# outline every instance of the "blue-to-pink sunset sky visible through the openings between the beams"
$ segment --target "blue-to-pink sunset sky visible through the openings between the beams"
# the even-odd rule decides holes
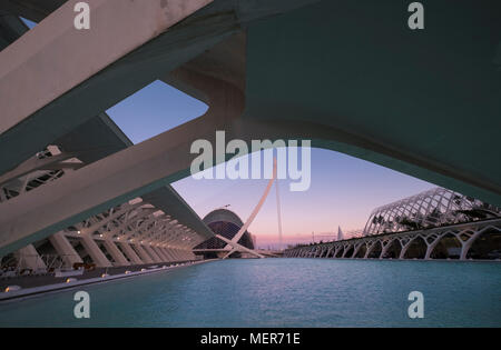
[[[156,81],[107,112],[134,143],[141,142],[204,114],[207,106],[164,82]],[[228,140],[227,140],[228,141]],[[243,221],[266,188],[267,180],[195,180],[173,187],[200,218],[229,204]],[[337,232],[363,229],[371,211],[428,190],[433,184],[343,153],[312,149],[312,182],[305,192],[291,192],[289,180],[279,180],[285,243],[327,240]],[[249,232],[259,247],[275,246],[278,237],[276,194],[272,189]]]

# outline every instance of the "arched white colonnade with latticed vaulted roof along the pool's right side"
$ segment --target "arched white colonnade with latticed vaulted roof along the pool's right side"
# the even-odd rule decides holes
[[[287,258],[499,259],[500,209],[436,188],[375,209],[364,236],[287,249]]]

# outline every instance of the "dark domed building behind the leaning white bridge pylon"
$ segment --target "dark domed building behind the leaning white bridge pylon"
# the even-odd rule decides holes
[[[244,226],[240,218],[236,213],[227,209],[216,209],[209,212],[204,219],[204,223],[213,230],[214,233],[220,234],[227,239],[233,239],[240,228]],[[239,244],[254,249],[253,237],[248,231],[245,231],[238,241]],[[202,242],[194,248],[196,254],[203,254],[204,259],[214,259],[226,254],[223,250],[226,247],[226,242],[218,239],[217,237],[212,237],[205,242]],[[239,257],[238,252],[232,254],[232,258]]]

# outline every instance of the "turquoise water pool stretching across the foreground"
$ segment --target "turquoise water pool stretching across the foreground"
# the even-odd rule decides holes
[[[414,290],[423,319],[407,317]],[[230,259],[0,304],[0,326],[500,327],[501,263]]]

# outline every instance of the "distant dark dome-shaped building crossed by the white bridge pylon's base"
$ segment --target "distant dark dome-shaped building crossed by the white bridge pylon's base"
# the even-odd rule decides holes
[[[233,211],[227,209],[216,209],[209,212],[203,220],[215,233],[220,234],[227,239],[232,239],[244,226],[240,218]],[[248,231],[245,231],[244,236],[239,239],[238,243],[242,246],[254,249],[254,243]],[[226,243],[220,239],[213,237],[202,242],[195,249],[223,249]]]

